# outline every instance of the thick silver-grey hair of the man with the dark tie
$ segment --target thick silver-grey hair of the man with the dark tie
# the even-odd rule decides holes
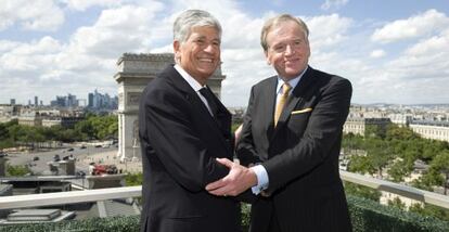
[[[187,10],[174,23],[174,40],[185,42],[193,27],[210,26],[217,29],[221,38],[221,25],[209,12],[202,10]]]

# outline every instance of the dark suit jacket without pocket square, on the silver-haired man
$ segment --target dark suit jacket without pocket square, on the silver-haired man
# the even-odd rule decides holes
[[[231,115],[215,101],[217,120],[172,66],[143,91],[141,231],[240,231],[239,203],[205,191],[229,172],[215,158],[233,156]]]

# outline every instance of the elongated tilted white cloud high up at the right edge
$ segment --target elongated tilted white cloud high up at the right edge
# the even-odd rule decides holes
[[[449,26],[449,18],[437,10],[428,10],[422,14],[399,20],[375,29],[371,39],[388,43],[403,39],[425,37],[434,31],[440,31]]]

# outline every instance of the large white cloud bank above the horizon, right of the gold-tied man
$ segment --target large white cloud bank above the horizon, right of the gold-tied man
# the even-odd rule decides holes
[[[359,75],[354,81],[355,98],[363,102],[447,103],[448,56],[449,30],[446,30],[423,38],[383,63],[360,57],[368,69],[355,73]]]

